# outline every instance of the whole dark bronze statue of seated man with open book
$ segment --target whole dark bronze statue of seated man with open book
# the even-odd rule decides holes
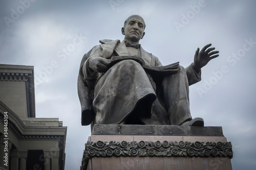
[[[201,68],[218,57],[211,44],[196,51],[194,62],[162,66],[139,44],[146,25],[139,15],[124,21],[124,40],[100,40],[82,58],[78,76],[82,125],[134,124],[204,126],[189,110],[189,85]],[[209,48],[210,47],[210,48]]]

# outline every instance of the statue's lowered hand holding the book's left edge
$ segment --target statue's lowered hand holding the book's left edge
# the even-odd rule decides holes
[[[102,57],[94,57],[89,60],[89,67],[96,72],[105,72],[109,69],[110,61]]]

